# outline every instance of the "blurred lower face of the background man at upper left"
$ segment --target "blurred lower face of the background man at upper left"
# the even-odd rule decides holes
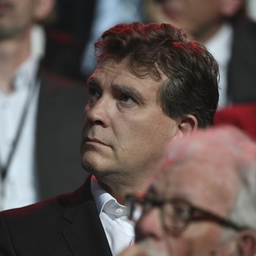
[[[38,0],[0,0],[0,38],[24,33],[34,22]]]

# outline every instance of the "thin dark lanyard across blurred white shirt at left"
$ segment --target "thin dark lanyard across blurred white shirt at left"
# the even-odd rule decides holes
[[[32,102],[32,100],[34,98],[34,94],[36,92],[36,89],[37,89],[38,85],[39,85],[39,79],[38,79],[38,74],[37,74],[34,84],[33,84],[33,82],[30,84],[30,90],[27,94],[26,102],[25,102],[25,105],[23,107],[23,112],[22,112],[22,115],[21,115],[20,120],[19,120],[19,126],[17,128],[15,138],[14,138],[14,141],[13,141],[12,146],[11,146],[11,151],[10,151],[10,153],[8,155],[8,158],[7,158],[7,162],[6,162],[5,165],[3,165],[0,161],[0,172],[1,172],[1,181],[2,181],[2,183],[5,180],[5,177],[8,173],[8,169],[10,167],[10,164],[11,164],[11,161],[13,159],[14,153],[17,149],[17,144],[19,142],[20,135],[21,135],[21,133],[23,131],[23,128],[24,128],[27,113],[29,111],[29,106],[30,106],[30,103]]]

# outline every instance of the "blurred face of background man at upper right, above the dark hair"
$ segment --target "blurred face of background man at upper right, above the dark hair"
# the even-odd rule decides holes
[[[145,1],[150,21],[173,24],[190,36],[200,37],[205,30],[219,26],[222,21],[223,0],[155,0]]]

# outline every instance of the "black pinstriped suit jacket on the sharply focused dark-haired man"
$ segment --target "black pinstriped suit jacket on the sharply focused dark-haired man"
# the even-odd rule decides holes
[[[1,212],[0,255],[112,255],[90,177],[72,194]]]

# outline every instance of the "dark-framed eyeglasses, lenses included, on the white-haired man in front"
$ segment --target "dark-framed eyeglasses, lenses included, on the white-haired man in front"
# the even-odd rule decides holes
[[[157,201],[137,196],[127,196],[126,206],[128,207],[128,217],[134,221],[137,221],[144,212],[153,207],[161,208],[163,227],[173,233],[182,232],[193,221],[211,221],[236,231],[249,229],[178,198]]]

